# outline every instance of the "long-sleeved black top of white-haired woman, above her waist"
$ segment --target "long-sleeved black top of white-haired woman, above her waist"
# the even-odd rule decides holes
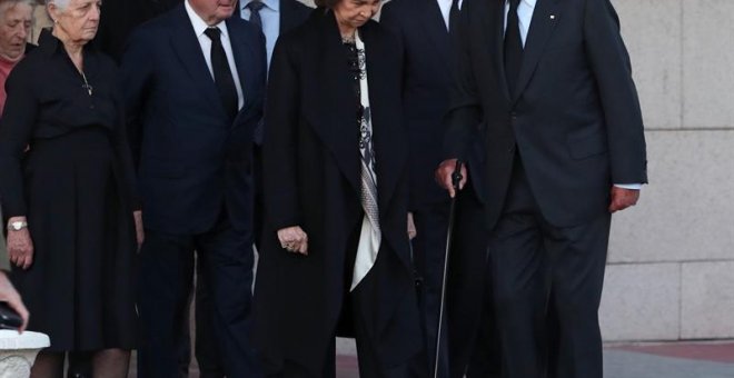
[[[21,173],[26,148],[32,149],[36,140],[81,128],[108,129],[127,181],[122,185],[129,188],[128,195],[136,197],[117,67],[90,46],[83,48],[83,64],[85,76],[63,43],[50,32],[42,32],[39,47],[10,72],[6,82],[8,100],[0,118],[0,203],[6,219],[27,215]]]

